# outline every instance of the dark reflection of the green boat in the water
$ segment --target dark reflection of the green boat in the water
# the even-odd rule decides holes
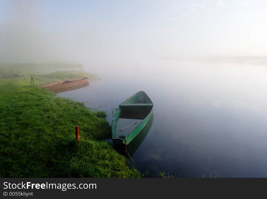
[[[144,141],[145,137],[147,136],[152,123],[153,123],[153,119],[154,119],[154,114],[153,111],[151,111],[151,117],[149,119],[149,121],[147,122],[146,126],[140,131],[140,133],[133,139],[133,141],[130,142],[130,144],[127,145],[127,152],[125,151],[125,144],[124,145],[113,145],[113,148],[115,148],[120,154],[125,155],[125,157],[129,158],[128,154],[130,156],[132,156],[134,154],[134,152],[137,150],[137,148],[141,145],[141,143]],[[144,116],[147,115],[147,113],[143,112],[144,115],[139,114],[140,119],[143,119]],[[136,116],[136,114],[134,114]],[[127,119],[133,119],[132,118],[132,114],[129,114],[128,117],[127,115],[123,114],[123,118]],[[137,119],[136,117],[134,119]]]

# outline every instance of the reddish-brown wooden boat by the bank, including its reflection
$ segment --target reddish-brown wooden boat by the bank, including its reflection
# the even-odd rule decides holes
[[[58,81],[51,84],[41,85],[39,87],[45,88],[48,91],[53,91],[55,93],[71,91],[78,88],[83,88],[89,85],[88,78],[70,79],[66,81]]]

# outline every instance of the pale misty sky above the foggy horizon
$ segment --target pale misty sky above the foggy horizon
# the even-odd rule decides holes
[[[266,0],[0,0],[0,62],[267,56],[266,35]]]

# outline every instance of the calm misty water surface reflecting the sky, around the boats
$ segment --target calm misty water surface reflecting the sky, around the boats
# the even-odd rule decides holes
[[[86,70],[102,80],[58,96],[106,111],[110,125],[137,91],[153,101],[153,123],[132,155],[139,171],[267,177],[267,68],[157,60]]]

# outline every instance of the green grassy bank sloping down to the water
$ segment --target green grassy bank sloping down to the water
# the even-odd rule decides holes
[[[23,67],[0,69],[0,177],[140,177],[103,141],[105,114],[31,86]],[[88,143],[75,142],[76,125]]]

